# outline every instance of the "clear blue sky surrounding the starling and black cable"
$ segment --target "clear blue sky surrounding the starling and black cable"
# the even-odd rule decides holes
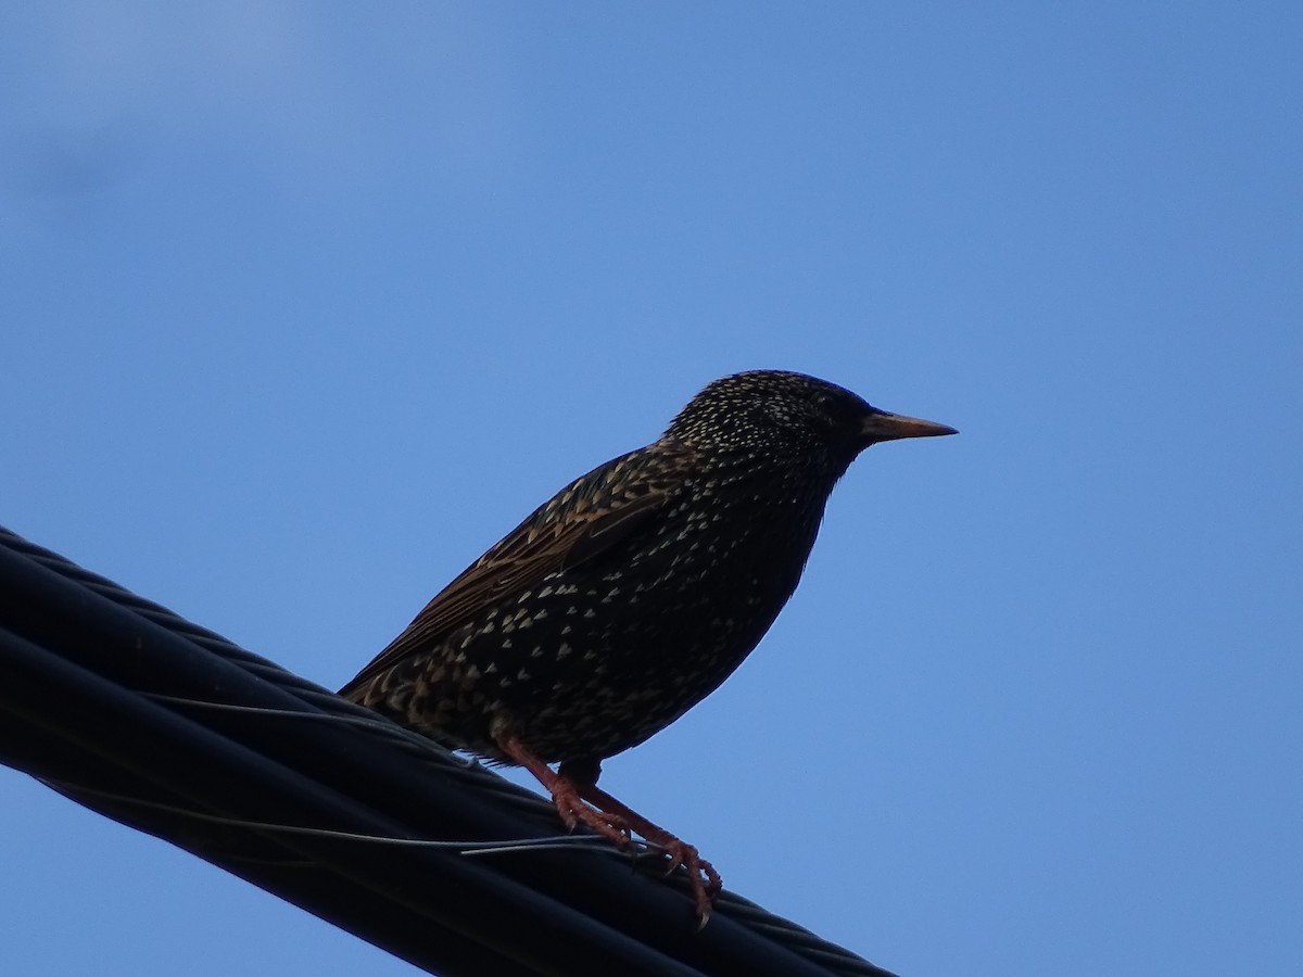
[[[874,448],[606,766],[908,974],[1303,961],[1298,4],[7,5],[0,521],[326,685],[714,376]],[[0,967],[412,968],[0,770]]]

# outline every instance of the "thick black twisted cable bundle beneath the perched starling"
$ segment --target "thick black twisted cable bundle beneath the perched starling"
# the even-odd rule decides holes
[[[890,977],[3,529],[0,762],[444,977]]]

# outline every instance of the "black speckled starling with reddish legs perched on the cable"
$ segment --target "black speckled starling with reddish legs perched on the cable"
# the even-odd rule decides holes
[[[842,387],[756,370],[710,383],[646,446],[562,488],[476,560],[340,694],[529,770],[568,827],[697,849],[597,787],[603,759],[710,694],[800,580],[833,486],[870,444],[955,434]],[[559,763],[554,772],[549,763]]]

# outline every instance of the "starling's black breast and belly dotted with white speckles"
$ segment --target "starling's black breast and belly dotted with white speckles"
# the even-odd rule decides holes
[[[754,649],[814,542],[826,492],[748,481],[684,485],[654,529],[450,636],[409,722],[487,757],[516,733],[547,761],[610,757],[671,723]]]

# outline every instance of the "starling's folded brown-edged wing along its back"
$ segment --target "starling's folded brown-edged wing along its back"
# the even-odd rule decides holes
[[[571,482],[440,590],[340,694],[349,696],[511,595],[542,586],[550,573],[624,542],[676,495],[692,453],[662,440],[654,452],[629,452]]]

